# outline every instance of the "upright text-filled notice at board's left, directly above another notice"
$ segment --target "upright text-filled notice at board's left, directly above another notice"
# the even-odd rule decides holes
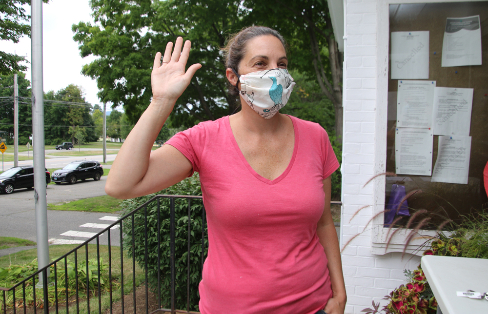
[[[431,128],[435,81],[398,80],[397,127]]]

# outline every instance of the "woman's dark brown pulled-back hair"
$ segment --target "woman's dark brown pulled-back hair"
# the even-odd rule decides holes
[[[228,40],[224,51],[225,68],[234,69],[239,73],[239,63],[244,58],[246,52],[246,45],[250,39],[260,36],[271,35],[280,39],[283,47],[286,50],[286,42],[276,30],[265,26],[249,26],[241,30],[239,33],[232,35]],[[229,94],[232,96],[238,96],[239,91],[229,82]]]

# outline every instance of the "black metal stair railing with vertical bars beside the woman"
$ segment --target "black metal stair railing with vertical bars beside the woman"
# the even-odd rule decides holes
[[[171,302],[170,304],[162,304],[162,297],[161,297],[161,292],[162,292],[162,283],[161,283],[161,262],[164,256],[161,255],[160,249],[157,251],[157,285],[156,287],[151,287],[151,289],[156,290],[156,296],[157,296],[157,308],[156,310],[149,310],[150,307],[154,308],[154,305],[150,305],[148,301],[148,293],[149,293],[149,286],[148,286],[148,233],[149,230],[154,230],[152,228],[154,226],[154,222],[152,222],[152,226],[148,226],[148,219],[147,219],[147,208],[148,205],[154,205],[154,202],[156,202],[156,208],[157,208],[157,233],[158,233],[158,243],[157,247],[161,248],[162,246],[162,235],[160,234],[161,232],[161,199],[169,199],[170,201],[170,211],[169,211],[169,244],[170,244],[170,258],[169,258],[169,263],[170,263],[170,289],[171,289]],[[176,309],[176,304],[175,304],[175,289],[176,289],[176,271],[175,271],[175,199],[186,199],[187,201],[187,206],[188,206],[188,216],[187,216],[187,256],[186,256],[186,262],[187,262],[187,274],[186,274],[186,286],[187,286],[187,299],[186,299],[186,310],[178,310]],[[102,313],[102,285],[105,286],[104,291],[104,297],[106,298],[108,294],[108,302],[109,302],[109,308],[110,308],[110,313],[112,314],[114,309],[113,309],[113,299],[114,299],[114,285],[115,283],[113,282],[114,279],[114,265],[112,261],[112,251],[113,251],[113,236],[111,235],[111,230],[113,228],[119,228],[120,230],[120,278],[119,278],[119,284],[120,284],[120,303],[121,303],[121,313],[124,314],[124,311],[129,312],[129,310],[124,309],[124,298],[127,298],[128,296],[124,294],[124,286],[127,285],[127,283],[124,282],[124,259],[132,259],[132,305],[133,309],[129,313],[155,313],[155,312],[170,312],[171,314],[175,313],[198,313],[198,312],[192,312],[190,311],[190,264],[191,264],[191,259],[190,259],[190,253],[191,253],[191,243],[190,243],[190,234],[192,233],[192,221],[194,221],[195,218],[192,218],[191,216],[191,208],[192,208],[192,200],[197,200],[197,199],[202,199],[202,196],[177,196],[177,195],[158,195],[154,196],[147,202],[143,203],[141,206],[137,207],[130,213],[122,216],[119,220],[113,222],[110,224],[108,227],[103,229],[101,232],[96,234],[95,236],[92,236],[90,239],[85,241],[84,243],[80,244],[73,250],[69,251],[68,253],[62,255],[60,258],[57,258],[56,260],[52,261],[49,265],[39,269],[32,275],[29,275],[28,277],[22,279],[20,282],[16,283],[14,286],[10,288],[1,288],[0,287],[0,303],[2,303],[2,307],[0,309],[0,313],[3,314],[17,314],[17,313],[23,313],[26,314],[27,311],[29,313],[34,313],[37,314],[37,312],[44,314],[48,314],[49,312],[51,313],[56,313],[59,314],[60,312],[69,314],[75,311],[75,313],[95,313],[98,310],[98,313]],[[140,213],[140,211],[143,211],[143,216],[144,218],[144,258],[143,258],[143,271],[145,272],[144,274],[144,308],[141,310],[140,308],[136,308],[136,290],[137,290],[137,283],[136,283],[136,243],[135,243],[135,214]],[[201,269],[203,270],[203,261],[205,259],[205,210],[202,206],[202,247],[201,247]],[[138,226],[139,227],[139,226]],[[125,229],[124,229],[125,228]],[[123,232],[125,230],[126,232]],[[128,232],[127,232],[128,231]],[[103,282],[102,284],[102,278],[101,278],[101,273],[102,273],[102,258],[101,258],[101,253],[100,253],[100,237],[104,234],[107,234],[108,236],[108,283]],[[127,238],[127,234],[131,238]],[[96,272],[92,272],[94,269],[95,265],[89,265],[90,262],[93,261],[93,259],[89,259],[89,244],[96,242],[96,256],[95,256],[95,261],[96,261]],[[124,245],[130,243],[132,247],[129,247],[126,251],[129,252],[129,256],[127,254],[124,254]],[[79,267],[79,252],[84,251],[84,269],[81,269],[80,271],[78,270]],[[127,252],[126,252],[127,253]],[[74,258],[74,265],[72,265],[69,262],[68,257]],[[138,263],[141,264],[141,259],[138,259]],[[71,265],[71,266],[68,266]],[[141,265],[142,266],[142,265]],[[74,267],[74,269],[73,269]],[[71,272],[70,272],[71,271]],[[73,278],[73,272],[74,272],[74,278]],[[84,272],[84,274],[83,274]],[[53,273],[53,274],[51,274]],[[70,276],[72,279],[68,280],[68,277]],[[200,273],[201,274],[201,273]],[[80,278],[80,276],[85,275],[85,278]],[[91,276],[90,276],[91,275]],[[96,279],[94,278],[94,275],[96,275]],[[52,279],[52,283],[49,283],[49,279]],[[63,287],[58,286],[58,279],[64,278],[64,281],[61,280],[61,283],[64,283]],[[200,276],[201,278],[201,276]],[[198,278],[198,281],[200,280]],[[68,282],[74,280],[74,294],[73,294],[73,289],[68,287]],[[128,280],[125,280],[128,282]],[[95,285],[96,283],[96,285]],[[129,282],[130,284],[130,282]],[[38,287],[36,287],[38,285]],[[41,287],[39,287],[42,285]],[[84,293],[85,295],[80,295],[80,288],[83,288],[86,290]],[[32,296],[29,293],[26,293],[27,290],[32,290]],[[36,289],[42,289],[42,298],[36,298]],[[53,297],[49,297],[48,292],[54,291],[54,300]],[[69,294],[68,292],[71,291],[72,294]],[[64,292],[64,293],[63,293]],[[60,297],[63,297],[60,299]],[[42,300],[41,300],[42,299]],[[2,302],[3,301],[3,302]],[[40,303],[42,301],[42,304]],[[85,302],[81,308],[81,303]],[[90,302],[98,302],[98,307],[97,306],[91,306],[90,307]],[[74,303],[74,304],[73,304]],[[170,308],[164,308],[165,306],[170,305]],[[106,310],[108,312],[108,309]]]

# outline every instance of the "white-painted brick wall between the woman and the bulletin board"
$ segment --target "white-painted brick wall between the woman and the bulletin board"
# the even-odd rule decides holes
[[[413,270],[420,258],[401,253],[371,254],[374,191],[376,98],[377,98],[377,8],[376,0],[346,0],[343,216],[342,243],[354,239],[343,251],[347,289],[347,314],[360,314],[371,301],[380,302],[394,288],[405,283],[404,269]],[[352,218],[352,220],[351,220]],[[367,226],[367,227],[366,227]],[[366,228],[365,228],[366,227]],[[359,236],[357,236],[360,234]]]

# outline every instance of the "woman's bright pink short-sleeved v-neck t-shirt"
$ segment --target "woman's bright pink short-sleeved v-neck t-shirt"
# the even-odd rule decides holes
[[[316,229],[323,180],[339,163],[319,124],[290,118],[293,156],[274,180],[247,163],[229,117],[201,122],[166,142],[200,174],[208,226],[202,314],[314,314],[332,296]]]

